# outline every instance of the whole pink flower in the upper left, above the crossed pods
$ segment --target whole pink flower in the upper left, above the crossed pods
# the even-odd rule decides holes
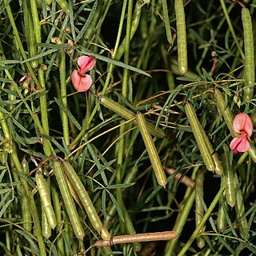
[[[74,70],[71,78],[74,88],[79,92],[90,89],[93,82],[90,75],[86,74],[86,72],[92,70],[95,64],[96,61],[92,56],[81,56],[78,58],[79,71]]]

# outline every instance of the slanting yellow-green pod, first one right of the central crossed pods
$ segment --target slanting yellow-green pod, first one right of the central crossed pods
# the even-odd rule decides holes
[[[202,129],[202,126],[198,120],[198,117],[194,111],[194,107],[190,103],[186,103],[185,105],[186,116],[190,122],[190,126],[192,132],[194,134],[194,138],[198,143],[198,148],[202,155],[203,162],[206,165],[207,170],[214,171],[215,170],[215,162],[212,156],[213,151],[210,151],[209,144],[207,144],[206,140],[208,140],[205,131]],[[209,142],[210,143],[210,142]]]

